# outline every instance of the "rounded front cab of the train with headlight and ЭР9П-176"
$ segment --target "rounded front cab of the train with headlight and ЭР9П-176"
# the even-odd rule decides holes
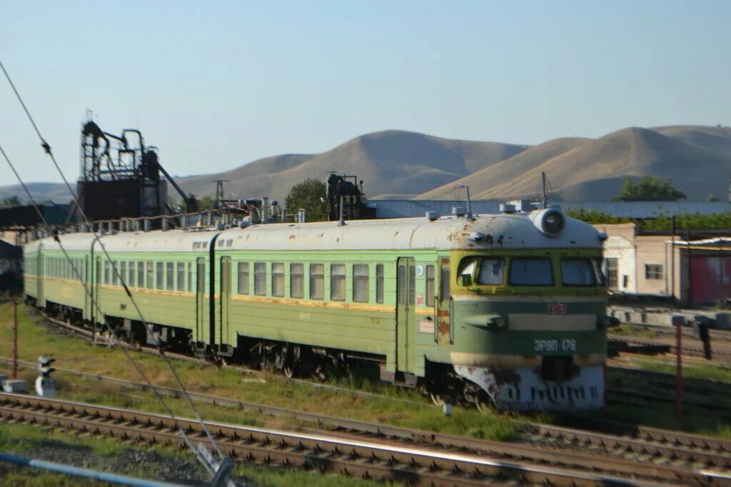
[[[481,244],[452,254],[450,362],[465,395],[499,409],[603,407],[602,235],[557,208],[471,230]]]

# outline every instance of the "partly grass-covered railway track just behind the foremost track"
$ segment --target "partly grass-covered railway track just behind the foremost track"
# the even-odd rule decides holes
[[[26,364],[32,365],[23,363],[23,365]],[[59,371],[86,375],[97,380],[112,380],[130,388],[148,389],[148,386],[138,382],[65,371],[64,369]],[[158,388],[158,390],[167,396],[180,394],[173,389]],[[638,475],[642,479],[669,483],[700,484],[710,481],[717,485],[731,484],[731,481],[722,473],[731,469],[731,440],[700,437],[643,426],[580,420],[574,426],[581,426],[585,430],[532,424],[526,427],[518,442],[491,442],[449,434],[414,431],[384,424],[332,418],[200,393],[191,393],[191,396],[197,401],[254,410],[262,415],[295,418],[303,423],[311,423],[313,428],[317,426],[320,432],[323,427],[329,428],[329,434],[354,441],[367,439],[382,445],[397,443],[405,448],[414,445],[439,448],[450,452],[489,455],[509,461],[528,460],[550,467],[560,465],[584,472],[599,471],[605,472],[605,475],[629,475],[630,477]],[[581,423],[582,421],[583,423]],[[599,431],[586,431],[586,428],[599,429]],[[602,467],[597,467],[599,462]]]

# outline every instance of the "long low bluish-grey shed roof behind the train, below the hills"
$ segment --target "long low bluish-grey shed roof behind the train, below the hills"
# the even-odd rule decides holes
[[[496,214],[504,200],[474,200],[473,213]],[[719,214],[731,211],[725,201],[562,201],[555,202],[564,211],[569,209],[596,210],[612,216],[651,219],[672,214]],[[376,208],[376,218],[408,218],[424,216],[426,211],[439,211],[442,215],[452,214],[453,206],[466,206],[456,200],[369,200],[368,205]]]

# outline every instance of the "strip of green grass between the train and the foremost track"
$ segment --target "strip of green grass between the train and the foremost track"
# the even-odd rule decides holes
[[[36,314],[20,306],[19,355],[21,360],[34,361],[39,355],[53,355],[55,366],[84,371],[124,380],[143,382],[132,368],[123,352],[102,345],[92,346],[85,340],[58,333],[53,325],[44,325]],[[10,306],[0,306],[0,342],[10,343],[12,323]],[[159,357],[131,352],[135,361],[155,385],[175,387],[175,382]],[[7,356],[7,355],[6,355]],[[363,396],[342,390],[315,388],[309,384],[288,382],[268,374],[265,381],[257,376],[238,371],[216,369],[215,366],[173,360],[175,370],[189,390],[215,396],[237,399],[270,406],[299,409],[307,412],[331,415],[369,422],[388,423],[410,429],[425,429],[448,434],[484,437],[486,439],[510,439],[515,437],[522,423],[530,416],[505,416],[497,412],[483,414],[474,409],[455,407],[450,418],[441,410],[431,407],[417,390],[396,388],[385,383],[355,379],[338,379],[327,382],[341,388],[361,389],[385,397]],[[34,380],[33,369],[23,369],[21,378]],[[122,390],[118,385],[91,379],[56,373],[59,399],[90,401],[95,404],[144,409],[164,412],[150,393]],[[76,385],[77,387],[72,387]],[[191,418],[193,412],[185,401],[166,399],[177,415]],[[206,406],[197,403],[201,415],[207,420],[243,423],[259,426],[297,426],[291,421],[254,415],[238,409]]]

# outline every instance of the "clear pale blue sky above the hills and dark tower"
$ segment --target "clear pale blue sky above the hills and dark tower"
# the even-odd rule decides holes
[[[171,173],[383,129],[540,143],[731,124],[731,1],[14,1],[0,58],[78,174],[87,108]],[[0,79],[0,144],[58,181]],[[0,184],[14,178],[0,161]]]

